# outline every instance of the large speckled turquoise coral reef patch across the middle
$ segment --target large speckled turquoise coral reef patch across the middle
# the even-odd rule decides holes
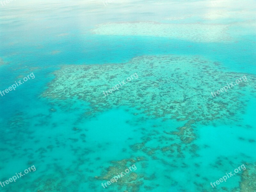
[[[128,82],[126,78],[134,73],[138,77]],[[56,78],[42,96],[64,100],[78,97],[87,101],[91,108],[85,116],[89,117],[123,105],[136,108],[147,118],[184,121],[183,128],[172,134],[185,143],[195,139],[192,127],[196,122],[238,121],[238,113],[243,112],[248,102],[243,95],[255,96],[256,89],[255,76],[226,72],[219,65],[197,56],[141,56],[122,64],[65,65],[54,75]],[[246,82],[212,96],[211,92],[244,75]],[[104,94],[116,84],[123,86],[111,94]]]

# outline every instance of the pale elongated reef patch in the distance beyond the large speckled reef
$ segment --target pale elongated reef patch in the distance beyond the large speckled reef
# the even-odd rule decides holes
[[[227,33],[228,27],[221,24],[170,24],[140,21],[104,23],[92,29],[92,32],[99,35],[159,36],[195,42],[223,42],[231,40]]]

